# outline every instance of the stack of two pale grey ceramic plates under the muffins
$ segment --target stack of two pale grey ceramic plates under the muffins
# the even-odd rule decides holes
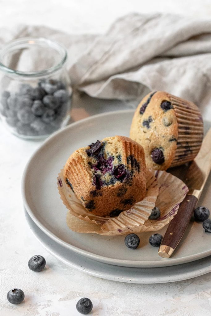
[[[128,249],[124,236],[72,232],[67,210],[57,190],[57,175],[69,155],[79,147],[114,135],[129,135],[132,110],[92,116],[57,132],[32,156],[23,175],[22,195],[26,219],[42,245],[66,264],[91,275],[130,283],[162,283],[189,279],[211,271],[211,234],[191,221],[169,259],[150,246],[152,232],[140,234],[140,246]],[[206,124],[208,128],[210,123]],[[211,175],[199,205],[211,201]],[[166,228],[159,231],[164,235]],[[210,256],[210,257],[209,257]]]

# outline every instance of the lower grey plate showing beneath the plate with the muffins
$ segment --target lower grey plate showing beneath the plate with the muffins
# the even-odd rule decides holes
[[[127,283],[167,283],[191,279],[211,271],[211,257],[163,268],[127,268],[94,261],[59,245],[43,233],[25,212],[27,222],[42,246],[58,260],[92,276]]]

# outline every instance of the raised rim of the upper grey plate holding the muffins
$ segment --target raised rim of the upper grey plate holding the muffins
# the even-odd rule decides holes
[[[81,248],[78,248],[76,246],[73,246],[64,240],[61,240],[58,236],[53,234],[48,228],[45,227],[44,224],[42,224],[36,216],[33,214],[33,211],[30,209],[28,203],[27,203],[27,197],[26,197],[26,191],[25,191],[25,186],[26,186],[26,181],[27,181],[27,173],[28,169],[30,167],[31,161],[34,159],[36,155],[39,155],[39,152],[46,146],[47,143],[52,141],[52,139],[56,138],[58,135],[65,133],[67,130],[71,130],[77,125],[83,125],[86,122],[89,122],[93,119],[97,119],[100,117],[104,116],[110,116],[110,115],[116,115],[116,114],[126,114],[126,113],[134,113],[135,109],[129,109],[129,110],[117,110],[117,111],[109,111],[109,112],[103,112],[100,114],[92,115],[87,118],[78,120],[74,123],[71,123],[68,126],[65,126],[64,128],[60,129],[59,131],[56,131],[53,133],[50,137],[48,137],[39,147],[38,149],[35,150],[35,152],[30,156],[24,172],[22,174],[22,181],[21,181],[21,192],[22,192],[22,199],[23,199],[23,204],[25,209],[28,212],[28,215],[31,217],[31,219],[34,221],[34,223],[45,233],[47,236],[49,236],[51,239],[53,239],[55,242],[59,243],[60,245],[64,246],[65,248],[68,248],[79,255],[85,256],[87,258],[106,263],[106,264],[111,264],[111,265],[118,265],[118,266],[124,266],[124,267],[140,267],[140,268],[150,268],[150,267],[165,267],[165,266],[173,266],[173,265],[178,265],[178,264],[185,264],[187,262],[199,260],[201,258],[208,257],[211,255],[211,249],[207,250],[205,252],[202,252],[197,255],[191,255],[191,256],[186,256],[183,257],[182,263],[181,263],[181,258],[170,258],[168,261],[154,261],[154,264],[152,264],[152,261],[138,261],[138,260],[123,260],[123,259],[115,259],[115,258],[109,258],[109,257],[104,257],[98,254],[95,254],[93,252],[89,252],[86,250],[83,250]],[[59,173],[59,170],[58,170]],[[168,263],[168,264],[167,264]]]

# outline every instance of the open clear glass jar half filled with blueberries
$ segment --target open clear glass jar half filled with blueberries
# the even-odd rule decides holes
[[[16,136],[42,139],[70,119],[67,52],[45,38],[21,38],[0,52],[0,118]]]

